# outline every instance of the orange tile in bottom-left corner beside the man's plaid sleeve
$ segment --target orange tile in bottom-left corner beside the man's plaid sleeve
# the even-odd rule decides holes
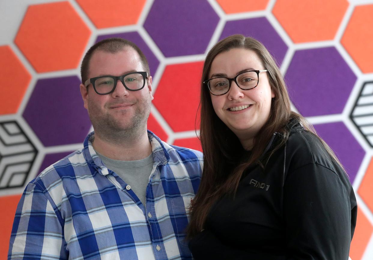
[[[0,259],[7,259],[10,234],[12,233],[13,220],[19,199],[22,194],[0,197],[0,209],[6,214],[1,214],[0,221]]]

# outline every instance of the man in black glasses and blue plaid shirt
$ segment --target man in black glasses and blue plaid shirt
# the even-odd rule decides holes
[[[93,45],[81,66],[94,132],[25,189],[9,259],[191,259],[188,206],[201,177],[200,152],[150,131],[152,77],[132,42]]]

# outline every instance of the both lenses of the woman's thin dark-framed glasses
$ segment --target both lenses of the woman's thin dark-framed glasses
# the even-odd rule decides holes
[[[252,89],[258,85],[258,74],[256,72],[245,72],[239,74],[236,78],[238,86],[242,89]],[[211,79],[208,83],[210,91],[215,95],[228,92],[229,80],[225,77]]]

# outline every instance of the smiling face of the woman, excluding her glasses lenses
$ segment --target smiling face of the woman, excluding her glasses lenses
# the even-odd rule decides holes
[[[244,70],[264,69],[267,68],[263,67],[254,51],[234,48],[214,58],[209,79],[216,76],[233,78]],[[275,93],[269,85],[267,72],[260,72],[256,88],[242,90],[233,80],[228,93],[219,96],[210,93],[210,96],[216,115],[242,143],[243,140],[253,139],[268,120]],[[242,106],[247,108],[242,109]]]

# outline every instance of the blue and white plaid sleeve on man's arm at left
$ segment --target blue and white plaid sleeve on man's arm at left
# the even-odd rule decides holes
[[[62,219],[48,196],[37,183],[26,187],[13,222],[8,260],[68,259]]]

